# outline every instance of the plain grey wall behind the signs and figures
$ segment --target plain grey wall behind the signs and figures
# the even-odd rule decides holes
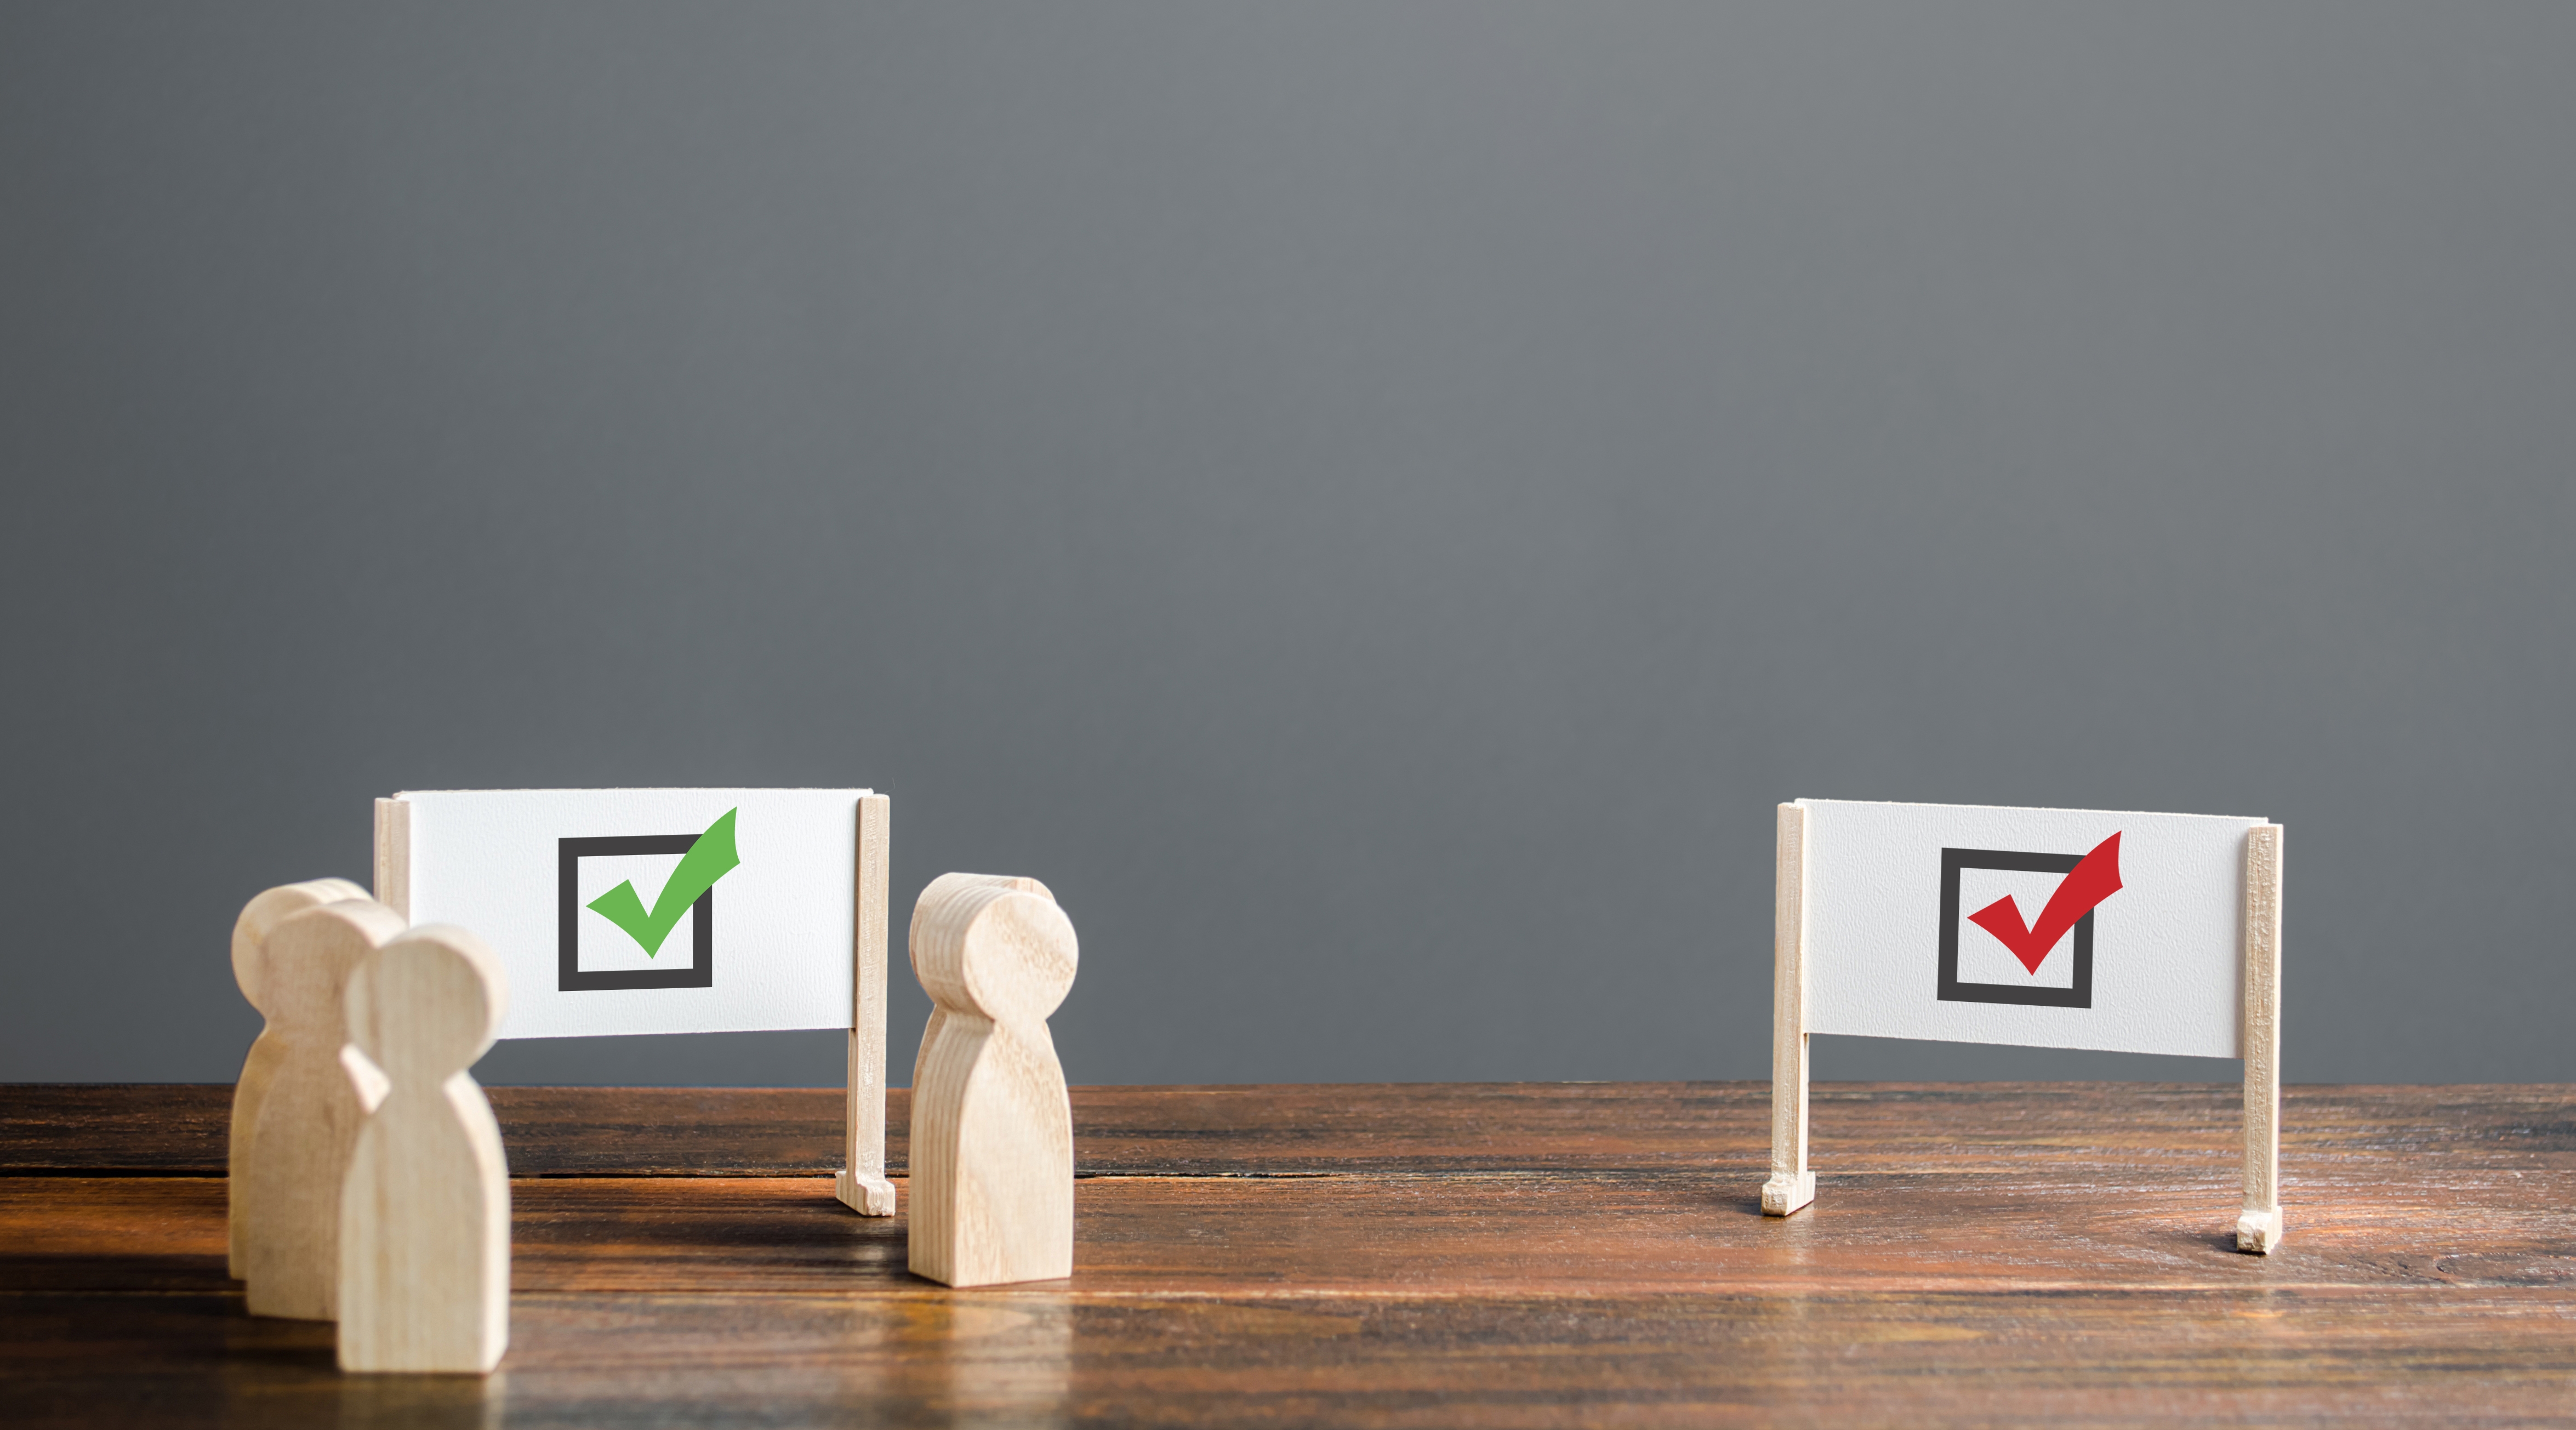
[[[0,1077],[229,1080],[234,910],[376,794],[873,783],[899,917],[1064,897],[1077,1082],[1762,1077],[1790,796],[2269,814],[2293,1080],[2571,1080],[2571,57],[13,0]]]

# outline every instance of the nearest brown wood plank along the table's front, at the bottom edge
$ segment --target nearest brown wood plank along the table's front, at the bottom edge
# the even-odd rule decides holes
[[[520,1296],[502,1373],[355,1378],[224,1296],[0,1296],[10,1425],[2535,1425],[2555,1291]],[[2499,1330],[2504,1335],[2499,1335]]]

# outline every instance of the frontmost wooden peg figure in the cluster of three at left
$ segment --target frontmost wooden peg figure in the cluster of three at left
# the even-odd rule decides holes
[[[510,1167],[466,1072],[507,977],[484,940],[422,925],[348,982],[348,1028],[386,1092],[340,1183],[340,1368],[489,1371],[510,1342]]]

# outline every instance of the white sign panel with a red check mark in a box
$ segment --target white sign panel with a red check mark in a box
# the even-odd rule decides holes
[[[1806,809],[1806,1031],[2244,1056],[2246,830],[2264,819]]]

